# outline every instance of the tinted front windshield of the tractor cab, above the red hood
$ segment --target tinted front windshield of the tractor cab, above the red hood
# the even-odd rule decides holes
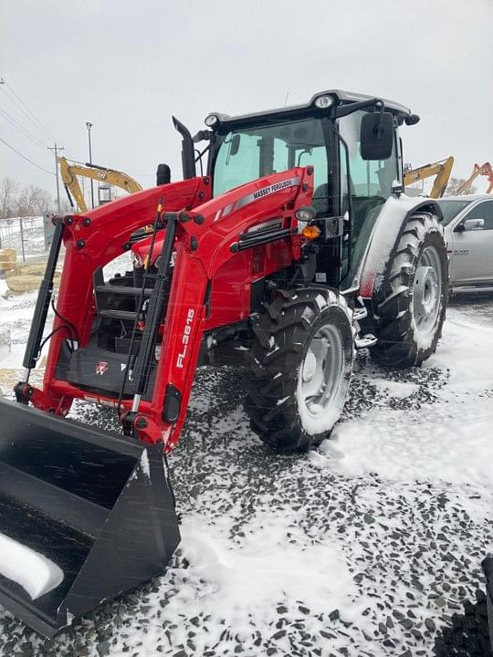
[[[215,158],[215,196],[269,173],[312,164],[313,202],[320,211],[326,211],[327,150],[320,119],[238,128],[219,138],[222,141]]]

